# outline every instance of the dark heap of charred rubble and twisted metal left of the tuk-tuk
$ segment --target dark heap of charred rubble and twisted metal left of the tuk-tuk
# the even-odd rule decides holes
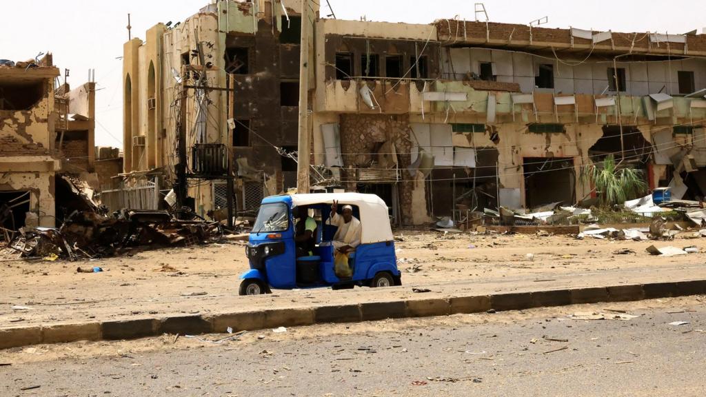
[[[176,220],[167,211],[119,211],[112,216],[97,211],[75,211],[59,228],[20,230],[9,247],[20,256],[95,259],[125,254],[140,247],[185,247],[222,237],[218,222]]]

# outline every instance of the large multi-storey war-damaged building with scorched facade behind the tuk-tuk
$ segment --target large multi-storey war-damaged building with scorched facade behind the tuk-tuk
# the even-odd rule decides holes
[[[170,187],[186,119],[197,212],[228,195],[225,163],[208,174],[201,153],[232,155],[238,211],[294,187],[301,3],[216,1],[126,43],[126,174]],[[314,185],[378,194],[418,225],[584,201],[587,166],[612,154],[650,189],[706,196],[706,35],[337,20],[310,5]],[[213,89],[185,90],[201,73]]]

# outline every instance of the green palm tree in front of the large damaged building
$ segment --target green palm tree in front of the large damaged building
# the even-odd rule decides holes
[[[599,204],[610,207],[640,196],[647,190],[642,179],[644,172],[634,168],[618,169],[613,155],[607,155],[602,163],[590,165],[587,177],[598,194]]]

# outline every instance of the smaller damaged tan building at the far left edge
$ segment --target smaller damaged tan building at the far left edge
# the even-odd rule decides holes
[[[52,54],[0,60],[0,219],[54,227],[117,172],[95,158],[95,83],[59,83]],[[80,194],[78,191],[81,191]],[[5,237],[11,237],[5,234]]]

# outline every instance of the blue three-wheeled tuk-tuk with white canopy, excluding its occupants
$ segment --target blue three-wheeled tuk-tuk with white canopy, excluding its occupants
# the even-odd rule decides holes
[[[332,239],[337,227],[329,221],[331,205],[351,206],[360,220],[359,246],[348,255],[350,277],[339,278],[334,267]],[[318,215],[313,251],[297,258],[295,208],[303,206]],[[401,285],[395,241],[388,206],[374,194],[320,193],[266,197],[246,247],[250,270],[241,275],[240,295],[270,293],[270,288],[349,289],[355,285]]]

